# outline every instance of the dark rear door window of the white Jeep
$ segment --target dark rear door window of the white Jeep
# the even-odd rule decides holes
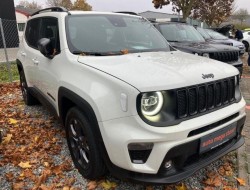
[[[32,19],[28,21],[25,31],[25,39],[28,45],[36,49],[37,49],[37,41],[39,39],[39,26],[40,26],[40,19]]]

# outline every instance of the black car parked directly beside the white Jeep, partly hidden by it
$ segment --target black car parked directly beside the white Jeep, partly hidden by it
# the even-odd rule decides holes
[[[177,22],[155,22],[154,26],[176,49],[215,59],[235,66],[242,73],[239,49],[233,46],[208,43],[191,25]]]

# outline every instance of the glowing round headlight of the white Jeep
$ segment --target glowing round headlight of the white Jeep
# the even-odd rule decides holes
[[[161,111],[163,95],[161,92],[148,92],[142,95],[141,111],[144,115],[153,116]]]

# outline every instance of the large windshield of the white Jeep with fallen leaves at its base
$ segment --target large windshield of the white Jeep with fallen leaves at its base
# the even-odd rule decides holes
[[[75,54],[117,55],[170,51],[147,20],[129,15],[70,15],[66,19],[69,49]]]

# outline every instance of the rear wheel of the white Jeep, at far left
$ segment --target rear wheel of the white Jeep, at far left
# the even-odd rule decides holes
[[[19,72],[19,75],[20,75],[20,88],[22,91],[24,103],[28,106],[38,104],[39,103],[38,100],[30,93],[30,90],[26,82],[24,71],[21,70]]]

